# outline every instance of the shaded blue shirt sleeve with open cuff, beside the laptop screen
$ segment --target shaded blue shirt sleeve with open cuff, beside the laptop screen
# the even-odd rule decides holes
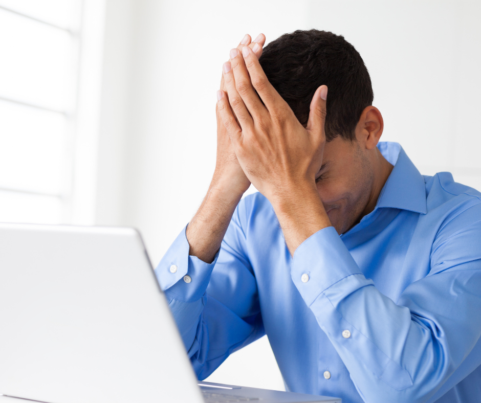
[[[265,334],[245,254],[244,213],[242,200],[212,263],[189,256],[185,227],[155,269],[199,379]]]

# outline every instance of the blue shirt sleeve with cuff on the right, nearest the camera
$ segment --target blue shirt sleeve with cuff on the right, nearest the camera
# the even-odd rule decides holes
[[[333,227],[296,250],[292,280],[365,401],[434,401],[481,364],[479,217],[477,205],[440,230],[431,271],[397,303],[364,277]]]

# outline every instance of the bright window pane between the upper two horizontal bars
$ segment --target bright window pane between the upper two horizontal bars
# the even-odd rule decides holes
[[[69,32],[0,8],[0,97],[63,110],[73,51]]]

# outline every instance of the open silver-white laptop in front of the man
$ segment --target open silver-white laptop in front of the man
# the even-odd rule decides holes
[[[341,399],[199,382],[131,228],[0,223],[0,403]]]

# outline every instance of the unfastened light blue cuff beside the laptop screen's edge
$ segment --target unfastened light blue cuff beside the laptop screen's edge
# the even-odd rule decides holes
[[[186,230],[187,226],[170,245],[156,267],[155,274],[167,297],[193,302],[205,294],[219,251],[212,263],[206,263],[196,256],[189,256],[190,245]]]

